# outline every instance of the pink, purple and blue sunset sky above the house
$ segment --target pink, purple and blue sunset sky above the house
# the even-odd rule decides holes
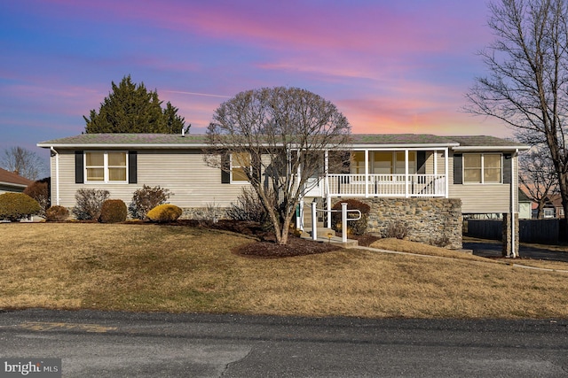
[[[510,136],[461,112],[492,42],[479,0],[20,0],[0,4],[0,150],[81,134],[130,74],[204,132],[242,90],[333,102],[353,133]],[[42,156],[43,156],[42,155]]]

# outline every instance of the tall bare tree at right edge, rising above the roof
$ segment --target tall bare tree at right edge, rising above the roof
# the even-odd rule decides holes
[[[490,73],[476,79],[466,110],[504,121],[522,142],[546,146],[568,213],[568,4],[500,0],[489,10],[495,41],[480,55]]]

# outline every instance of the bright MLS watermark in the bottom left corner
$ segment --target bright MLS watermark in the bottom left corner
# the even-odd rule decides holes
[[[61,378],[61,359],[0,359],[0,378]]]

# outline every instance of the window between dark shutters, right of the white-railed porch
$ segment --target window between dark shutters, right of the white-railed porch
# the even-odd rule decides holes
[[[501,154],[463,154],[463,181],[501,183]]]

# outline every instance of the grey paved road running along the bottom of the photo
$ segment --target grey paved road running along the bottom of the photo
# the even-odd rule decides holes
[[[64,377],[562,377],[568,320],[27,310],[0,313],[0,355],[61,358]]]

